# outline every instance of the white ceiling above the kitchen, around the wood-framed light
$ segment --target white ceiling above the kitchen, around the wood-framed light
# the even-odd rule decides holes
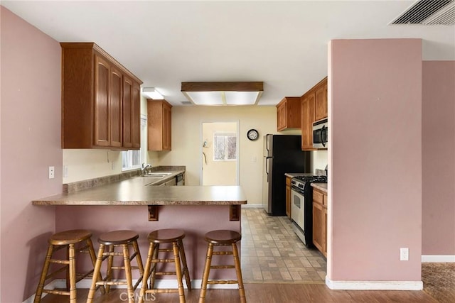
[[[327,75],[332,39],[422,38],[455,60],[455,26],[388,26],[414,1],[1,1],[59,42],[95,42],[173,105],[181,82],[263,81],[259,105]]]

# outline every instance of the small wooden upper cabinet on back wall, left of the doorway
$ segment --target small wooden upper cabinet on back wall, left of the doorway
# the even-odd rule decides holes
[[[149,150],[171,150],[171,108],[166,100],[147,99]]]

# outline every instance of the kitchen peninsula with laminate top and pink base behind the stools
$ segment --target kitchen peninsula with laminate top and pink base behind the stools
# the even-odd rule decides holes
[[[139,233],[142,258],[150,231],[181,228],[191,279],[202,277],[207,243],[204,234],[214,229],[241,233],[240,206],[247,199],[239,186],[150,186],[152,177],[92,187],[33,200],[36,206],[55,207],[55,231],[85,228],[96,243],[100,233],[131,229]],[[195,282],[194,287],[200,287]]]

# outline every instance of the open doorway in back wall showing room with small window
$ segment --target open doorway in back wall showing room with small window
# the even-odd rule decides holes
[[[200,184],[239,184],[238,124],[238,122],[201,124]]]

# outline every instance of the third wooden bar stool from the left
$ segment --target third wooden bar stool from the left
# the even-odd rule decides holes
[[[149,253],[144,270],[144,282],[142,283],[139,294],[139,303],[144,302],[144,296],[148,293],[171,293],[178,292],[178,298],[181,303],[185,302],[185,291],[183,290],[183,276],[185,276],[186,287],[191,290],[190,273],[186,265],[185,249],[183,248],[182,239],[185,238],[185,232],[181,229],[159,229],[149,233]],[[160,248],[161,244],[171,244],[172,248]],[[173,258],[159,259],[159,253],[173,253]],[[175,263],[175,272],[157,271],[158,263]],[[161,268],[160,268],[161,269]],[[156,275],[176,275],[178,288],[161,288],[155,287]],[[150,285],[147,287],[147,280],[150,277]]]

